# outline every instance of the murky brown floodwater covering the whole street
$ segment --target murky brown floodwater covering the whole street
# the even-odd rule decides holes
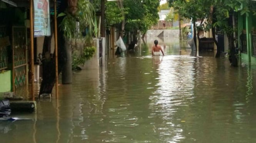
[[[256,68],[192,57],[177,44],[164,57],[144,45],[105,69],[74,72],[59,100],[16,114],[28,120],[0,121],[0,142],[255,143]]]

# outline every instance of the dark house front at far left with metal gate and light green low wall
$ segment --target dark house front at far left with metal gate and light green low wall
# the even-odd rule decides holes
[[[25,8],[0,7],[0,17],[0,93],[15,92],[28,85]]]

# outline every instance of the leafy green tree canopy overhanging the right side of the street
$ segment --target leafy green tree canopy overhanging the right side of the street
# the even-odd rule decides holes
[[[228,25],[228,18],[234,11],[241,11],[241,15],[249,15],[252,11],[256,15],[256,2],[251,0],[169,0],[172,6],[185,18],[198,20],[207,18],[209,23],[205,30],[212,26],[221,27],[224,31],[232,33],[232,25]],[[214,9],[214,11],[212,11]],[[213,18],[213,19],[212,19]],[[213,23],[212,23],[213,21]],[[230,31],[231,30],[231,31]]]

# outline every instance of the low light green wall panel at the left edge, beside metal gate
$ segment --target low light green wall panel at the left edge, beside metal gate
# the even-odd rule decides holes
[[[12,76],[11,71],[0,73],[0,93],[11,91]]]

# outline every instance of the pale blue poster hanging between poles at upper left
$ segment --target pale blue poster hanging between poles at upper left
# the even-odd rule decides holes
[[[50,34],[49,0],[34,0],[34,37]]]

